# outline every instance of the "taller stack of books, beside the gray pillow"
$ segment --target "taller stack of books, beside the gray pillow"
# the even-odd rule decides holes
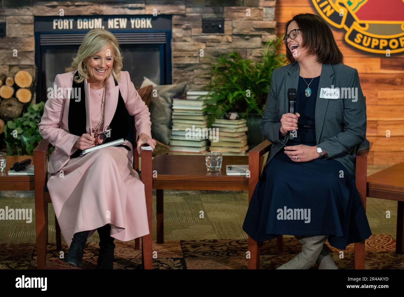
[[[187,91],[187,99],[173,98],[173,126],[168,154],[205,154],[208,151],[208,133],[196,135],[198,128],[207,131],[207,107],[200,99],[207,91]]]

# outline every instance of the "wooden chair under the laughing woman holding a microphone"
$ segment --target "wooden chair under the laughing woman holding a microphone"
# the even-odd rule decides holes
[[[368,150],[358,151],[356,155],[356,189],[361,196],[364,209],[366,211],[366,177],[367,177],[367,164],[368,154],[372,147],[372,142],[369,143]],[[248,152],[248,167],[250,170],[250,179],[248,181],[248,203],[250,203],[252,193],[255,190],[263,167],[262,162],[259,162],[261,156],[271,149],[271,143],[268,140],[263,141],[252,150]],[[278,251],[283,253],[283,238],[282,236],[277,238]],[[250,236],[248,236],[248,251],[250,251],[250,259],[248,259],[248,269],[259,269],[260,262],[260,248],[262,242],[256,242]],[[354,268],[365,268],[365,241],[356,242],[354,250]]]

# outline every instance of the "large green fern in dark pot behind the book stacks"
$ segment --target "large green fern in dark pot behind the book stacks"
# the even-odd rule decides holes
[[[280,38],[267,42],[260,61],[243,59],[240,53],[233,51],[208,63],[211,80],[204,86],[208,94],[203,97],[208,105],[209,125],[227,112],[237,112],[241,118],[247,119],[250,147],[264,140],[259,124],[271,86],[272,71],[286,63],[285,55],[278,53],[282,42]]]

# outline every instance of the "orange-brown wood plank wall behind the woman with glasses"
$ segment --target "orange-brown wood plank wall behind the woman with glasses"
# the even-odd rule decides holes
[[[299,13],[319,15],[311,0],[276,0],[278,36],[284,36],[286,22]],[[404,53],[386,57],[360,51],[345,42],[344,29],[329,27],[344,55],[344,63],[358,70],[366,96],[366,138],[373,142],[368,164],[404,162]],[[386,137],[386,130],[390,137]]]

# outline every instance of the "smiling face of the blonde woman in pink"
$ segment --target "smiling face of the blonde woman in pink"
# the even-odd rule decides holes
[[[109,76],[114,65],[113,53],[114,50],[111,44],[107,44],[101,51],[84,61],[90,76],[90,82],[102,83]]]

